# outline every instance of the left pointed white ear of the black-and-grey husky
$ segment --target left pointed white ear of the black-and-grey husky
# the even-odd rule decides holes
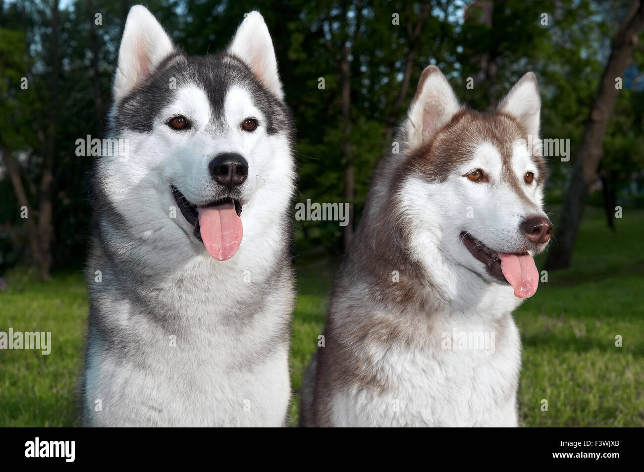
[[[115,102],[144,82],[156,66],[174,51],[171,39],[145,6],[130,8],[118,50],[113,88]]]

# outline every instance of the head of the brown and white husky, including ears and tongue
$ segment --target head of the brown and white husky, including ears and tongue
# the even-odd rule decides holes
[[[538,136],[539,113],[532,74],[490,114],[460,109],[442,73],[426,69],[406,122],[412,152],[398,189],[412,240],[440,238],[444,258],[509,283],[521,298],[536,292],[532,256],[553,231],[542,210],[545,165],[527,146]],[[423,245],[411,246],[431,271]]]

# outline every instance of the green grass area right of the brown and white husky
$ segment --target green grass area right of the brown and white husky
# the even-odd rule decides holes
[[[616,225],[588,207],[571,269],[548,274],[515,312],[526,426],[644,426],[644,211]]]

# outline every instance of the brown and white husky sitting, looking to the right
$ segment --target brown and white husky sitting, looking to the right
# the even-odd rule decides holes
[[[540,99],[526,74],[495,113],[421,76],[330,299],[304,426],[516,426],[520,338],[552,224]]]

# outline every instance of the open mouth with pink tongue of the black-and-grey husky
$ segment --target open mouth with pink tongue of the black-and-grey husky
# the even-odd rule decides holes
[[[174,185],[171,189],[181,214],[194,226],[194,237],[204,243],[216,260],[232,258],[242,243],[242,203],[224,198],[207,205],[194,205]]]

